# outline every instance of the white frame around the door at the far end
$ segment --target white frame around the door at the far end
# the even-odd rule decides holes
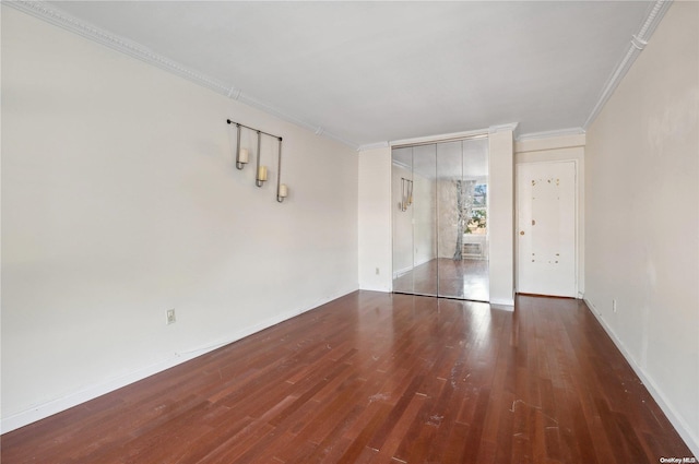
[[[560,164],[560,163],[572,163],[574,169],[574,205],[576,211],[573,214],[574,217],[574,243],[573,243],[573,255],[574,255],[574,294],[576,298],[582,298],[581,292],[581,183],[580,183],[580,163],[576,158],[565,158],[565,159],[549,159],[549,160],[528,160],[528,162],[519,162],[514,165],[514,292],[519,293],[519,283],[520,283],[520,198],[522,195],[521,186],[520,186],[520,166],[532,166],[532,165],[552,165],[552,164]]]

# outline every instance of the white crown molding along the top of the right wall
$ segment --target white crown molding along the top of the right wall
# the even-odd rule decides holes
[[[612,94],[619,85],[628,70],[631,68],[633,61],[636,61],[636,58],[638,58],[643,48],[645,48],[651,35],[653,35],[653,32],[665,15],[665,12],[667,12],[667,9],[672,4],[672,2],[673,0],[656,0],[655,3],[653,3],[653,5],[649,8],[643,24],[641,25],[637,34],[631,35],[626,55],[624,56],[619,64],[617,64],[617,67],[614,69],[614,72],[612,72],[609,79],[607,79],[607,82],[602,90],[602,94],[600,95],[597,103],[592,108],[592,111],[590,111],[590,116],[588,116],[584,124],[582,124],[582,128],[584,130],[587,130],[595,120],[597,115],[600,115],[600,111],[602,111],[604,105],[607,103],[609,97],[612,97]]]

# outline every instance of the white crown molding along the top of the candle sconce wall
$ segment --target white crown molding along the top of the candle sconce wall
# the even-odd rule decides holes
[[[171,74],[193,82],[194,84],[212,90],[221,95],[225,95],[230,99],[241,102],[248,106],[275,116],[295,126],[300,126],[315,132],[317,135],[332,139],[354,150],[357,150],[359,147],[358,143],[348,141],[333,132],[319,127],[318,124],[305,121],[304,119],[295,115],[282,111],[281,109],[253,97],[252,95],[246,94],[240,88],[236,88],[235,86],[228,85],[194,69],[187,68],[186,66],[178,63],[175,60],[156,53],[155,51],[142,46],[141,44],[128,40],[119,35],[112,34],[85,21],[79,20],[54,7],[49,2],[34,0],[5,0],[2,1],[2,4],[7,4],[8,7],[12,7],[15,10],[22,11],[23,13],[29,14],[49,24],[61,27],[73,34],[78,34],[92,41],[96,41],[97,44],[109,47],[132,58],[144,61]]]

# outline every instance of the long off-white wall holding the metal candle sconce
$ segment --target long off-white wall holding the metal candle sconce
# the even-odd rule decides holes
[[[358,287],[353,150],[4,5],[2,135],[3,431]]]

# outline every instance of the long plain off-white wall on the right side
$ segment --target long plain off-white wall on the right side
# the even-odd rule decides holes
[[[673,3],[585,146],[585,299],[696,455],[698,20]]]

